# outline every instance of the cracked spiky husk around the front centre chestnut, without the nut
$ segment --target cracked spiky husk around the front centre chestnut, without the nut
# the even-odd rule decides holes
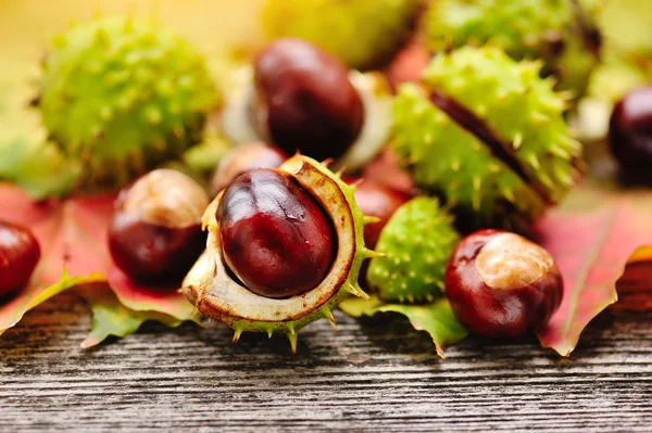
[[[249,174],[261,170],[249,171]],[[230,266],[226,263],[222,246],[221,226],[223,222],[222,218],[218,218],[218,207],[228,192],[227,189],[211,202],[203,215],[203,227],[209,233],[206,250],[188,273],[181,291],[203,316],[233,328],[235,330],[234,341],[238,341],[242,332],[266,332],[269,335],[274,332],[281,332],[287,334],[292,349],[296,351],[301,328],[319,318],[326,318],[335,323],[333,309],[344,297],[350,295],[367,297],[358,282],[360,267],[364,259],[375,257],[377,254],[364,245],[364,218],[353,199],[354,188],[346,184],[325,165],[303,155],[290,157],[273,171],[281,171],[284,174],[281,176],[289,176],[292,182],[300,186],[319,205],[317,214],[322,214],[323,211],[324,218],[333,228],[330,243],[335,244],[335,256],[333,259],[325,258],[328,254],[319,256],[319,260],[324,263],[331,262],[326,275],[316,286],[289,297],[262,296],[246,286],[244,282],[236,277],[235,271],[229,269]],[[272,186],[276,191],[277,181],[273,181]],[[292,190],[294,187],[287,188]],[[252,196],[249,193],[246,195]],[[290,199],[294,200],[294,198]],[[292,213],[291,216],[293,217],[294,214]],[[267,222],[275,218],[265,217]],[[303,232],[303,222],[298,222],[298,230]],[[284,221],[283,217],[280,224],[279,231],[281,232],[287,230],[289,225],[293,225]],[[272,229],[271,226],[267,226],[265,230],[267,228]],[[308,232],[311,231],[308,230]],[[324,230],[321,229],[317,232],[324,232]],[[300,239],[303,239],[303,234]],[[305,252],[305,247],[310,245],[297,244],[293,246]],[[328,251],[328,249],[323,250]],[[290,252],[290,255],[293,254]],[[301,257],[298,258],[301,259]],[[274,260],[269,260],[269,264],[273,263]],[[267,268],[265,264],[254,265],[261,266],[260,269],[265,273],[275,271],[272,267]],[[242,273],[241,269],[238,271]],[[294,271],[301,273],[303,270],[294,269]],[[241,277],[244,278],[242,275]],[[262,277],[269,278],[265,275]],[[311,284],[306,283],[305,285]]]

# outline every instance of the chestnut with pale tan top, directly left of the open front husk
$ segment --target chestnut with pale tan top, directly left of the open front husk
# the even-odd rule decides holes
[[[180,281],[205,246],[204,190],[172,169],[153,170],[118,194],[109,227],[113,262],[142,283]]]

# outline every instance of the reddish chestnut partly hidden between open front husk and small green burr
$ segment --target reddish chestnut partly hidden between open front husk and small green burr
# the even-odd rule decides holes
[[[368,249],[373,250],[376,247],[380,232],[387,225],[387,221],[389,221],[389,218],[410,199],[409,194],[388,188],[374,180],[364,180],[355,189],[355,203],[358,207],[360,207],[363,215],[378,218],[377,222],[364,226],[364,243]]]

